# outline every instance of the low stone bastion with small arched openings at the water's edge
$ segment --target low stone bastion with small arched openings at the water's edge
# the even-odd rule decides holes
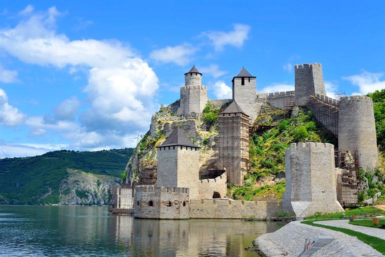
[[[188,188],[143,185],[136,186],[135,190],[134,217],[156,219],[189,218]]]

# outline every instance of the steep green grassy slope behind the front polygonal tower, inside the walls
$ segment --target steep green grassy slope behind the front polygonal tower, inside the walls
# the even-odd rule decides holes
[[[300,109],[296,117],[272,106],[262,108],[255,121],[258,131],[250,138],[249,171],[241,187],[230,187],[234,199],[275,200],[285,190],[284,150],[293,142],[335,143],[335,137],[321,128],[310,111]]]

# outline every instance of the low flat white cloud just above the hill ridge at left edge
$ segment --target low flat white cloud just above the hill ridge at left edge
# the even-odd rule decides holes
[[[65,148],[67,148],[65,144],[9,144],[0,142],[0,159],[41,155],[49,151],[62,150]]]

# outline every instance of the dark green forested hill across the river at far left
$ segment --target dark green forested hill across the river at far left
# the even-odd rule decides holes
[[[99,195],[97,197],[93,195],[98,190],[89,192],[89,195],[85,194],[86,190],[80,190],[79,186],[83,186],[83,184],[85,186],[86,181],[75,180],[81,184],[76,187],[76,191],[74,188],[69,188],[65,189],[65,192],[61,192],[63,181],[67,181],[69,176],[75,174],[68,170],[111,177],[109,180],[105,179],[105,181],[109,181],[108,183],[120,182],[120,174],[124,171],[132,152],[131,148],[95,152],[61,150],[33,157],[0,159],[0,203],[58,203],[63,198],[63,193],[68,195],[71,193],[70,191],[73,191],[73,195],[77,195],[74,197],[78,197],[73,202],[102,204],[107,200],[105,195],[103,195],[103,200],[92,202],[94,199],[100,198]],[[100,183],[99,181],[94,184],[99,188],[107,187]],[[75,194],[79,191],[82,193]]]

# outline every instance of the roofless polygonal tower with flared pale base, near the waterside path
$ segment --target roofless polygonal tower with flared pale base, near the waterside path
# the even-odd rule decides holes
[[[297,217],[315,212],[337,212],[334,146],[328,143],[292,143],[285,152],[286,190],[282,208]]]

